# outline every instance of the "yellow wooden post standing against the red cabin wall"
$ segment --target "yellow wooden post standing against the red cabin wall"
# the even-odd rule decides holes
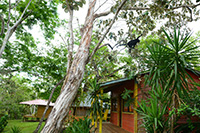
[[[135,79],[136,80],[136,79]],[[135,101],[134,101],[134,106],[137,108],[138,104],[137,104],[137,97],[138,95],[138,84],[137,82],[135,81],[135,84],[134,84],[134,98],[135,98]],[[134,109],[134,133],[137,133],[137,111]]]

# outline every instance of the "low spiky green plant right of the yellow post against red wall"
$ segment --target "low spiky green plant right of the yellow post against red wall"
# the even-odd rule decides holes
[[[161,88],[157,88],[149,92],[146,100],[138,102],[137,112],[147,132],[164,132],[169,129],[169,118],[173,114],[173,110],[169,110],[169,99]]]

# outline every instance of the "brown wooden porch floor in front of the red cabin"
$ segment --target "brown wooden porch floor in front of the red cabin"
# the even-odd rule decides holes
[[[99,124],[98,124],[99,125]],[[94,131],[94,127],[92,129]],[[97,127],[97,130],[95,133],[99,133],[99,126]],[[120,128],[110,122],[103,122],[102,123],[102,133],[130,133],[123,128]]]

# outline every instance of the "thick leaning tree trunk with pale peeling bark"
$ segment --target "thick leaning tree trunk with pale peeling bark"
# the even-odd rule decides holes
[[[86,61],[89,56],[89,46],[91,42],[94,7],[96,0],[90,0],[88,14],[86,16],[84,34],[81,38],[78,52],[76,53],[70,71],[66,77],[64,89],[56,100],[56,103],[49,114],[47,122],[42,129],[42,133],[58,133],[62,128],[63,121],[69,112],[78,88],[82,82],[85,72]]]

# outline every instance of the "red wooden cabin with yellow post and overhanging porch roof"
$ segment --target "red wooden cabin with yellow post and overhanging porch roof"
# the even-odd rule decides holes
[[[200,83],[200,74],[195,75],[192,71],[187,70],[195,82]],[[145,132],[144,128],[139,128],[142,121],[139,115],[134,110],[133,106],[124,106],[125,100],[121,94],[126,89],[132,90],[132,97],[136,97],[134,104],[137,106],[137,100],[144,98],[144,92],[149,90],[149,87],[144,86],[144,75],[141,75],[141,81],[138,83],[135,79],[118,79],[101,84],[104,93],[111,92],[111,118],[110,122],[132,133]],[[141,89],[142,88],[142,89]],[[200,88],[198,88],[200,90]],[[197,119],[196,119],[197,121]],[[186,119],[181,119],[179,122],[186,123]],[[199,121],[200,122],[200,121]]]

